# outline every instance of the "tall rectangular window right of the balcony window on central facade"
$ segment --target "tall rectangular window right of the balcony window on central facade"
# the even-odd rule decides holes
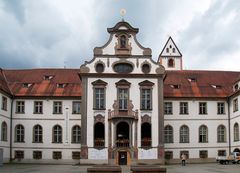
[[[141,109],[151,110],[152,109],[152,90],[141,89]]]

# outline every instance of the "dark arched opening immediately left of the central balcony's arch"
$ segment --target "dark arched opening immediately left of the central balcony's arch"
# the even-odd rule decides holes
[[[101,122],[94,125],[94,146],[104,147],[105,145],[105,127]]]

